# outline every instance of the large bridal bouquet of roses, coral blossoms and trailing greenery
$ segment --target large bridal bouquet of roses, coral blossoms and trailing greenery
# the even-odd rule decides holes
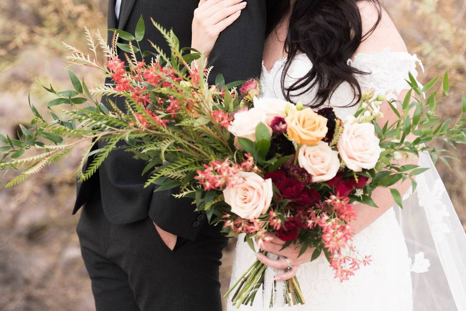
[[[69,71],[74,89],[45,87],[56,96],[49,103],[49,116],[30,104],[35,115],[31,126],[21,125],[17,139],[0,135],[0,169],[19,171],[7,186],[60,161],[81,143],[88,144],[78,171],[81,181],[94,174],[110,152],[125,150],[147,162],[141,172],[149,174],[146,187],[179,189],[176,197],[192,198],[193,209],[205,211],[227,236],[245,233],[253,249],[254,241],[270,239],[270,234],[301,254],[313,248],[313,259],[323,254],[335,277],[344,281],[371,261],[370,254],[359,255],[351,245],[350,222],[357,216],[353,204],[376,207],[372,191],[401,180],[412,179],[414,191],[413,177],[426,169],[399,161],[425,151],[434,152],[434,160],[447,157],[426,142],[466,141],[466,98],[463,115],[455,123],[444,120],[436,114],[442,98],[430,91],[437,79],[421,87],[410,76],[412,89],[403,102],[366,91],[357,112],[340,120],[330,107],[315,112],[300,103],[258,99],[254,80],[225,84],[218,75],[215,85],[208,85],[211,68],[205,68],[202,54],[180,49],[172,31],[153,24],[165,36],[170,57],[155,45],[154,52],[139,51],[142,18],[135,35],[116,30],[111,46],[100,34],[96,43],[86,29],[90,55],[65,44],[71,51],[70,65],[99,69],[114,84],[88,88]],[[118,59],[117,47],[127,52],[125,60]],[[99,49],[106,56],[104,64],[97,61]],[[148,56],[153,56],[150,61]],[[430,94],[424,98],[426,92]],[[449,93],[448,73],[443,92]],[[124,107],[111,100],[101,104],[96,99],[101,95],[123,98]],[[384,101],[398,119],[379,126]],[[103,144],[93,149],[98,142]],[[391,193],[402,207],[399,191]],[[252,304],[257,291],[267,287],[265,271],[256,261],[227,293],[234,291],[238,308]],[[270,306],[277,304],[272,293],[264,297]],[[304,303],[296,277],[285,282],[283,303]]]

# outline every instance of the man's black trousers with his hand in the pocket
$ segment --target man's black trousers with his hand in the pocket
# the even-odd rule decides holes
[[[77,232],[97,311],[222,310],[218,267],[225,238],[178,238],[171,251],[149,218],[110,224],[100,191],[83,208]]]

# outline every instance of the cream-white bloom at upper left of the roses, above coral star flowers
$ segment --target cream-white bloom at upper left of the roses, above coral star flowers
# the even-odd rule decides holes
[[[256,141],[256,127],[259,123],[267,124],[266,113],[258,108],[251,108],[234,115],[232,125],[228,128],[230,133],[236,137],[248,138]],[[272,129],[269,128],[270,134]]]

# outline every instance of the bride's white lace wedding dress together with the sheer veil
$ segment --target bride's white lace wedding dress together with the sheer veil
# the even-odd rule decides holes
[[[283,99],[280,79],[284,62],[284,59],[278,61],[270,71],[263,67],[262,97]],[[357,77],[361,89],[375,88],[377,92],[390,95],[409,88],[405,81],[408,71],[417,77],[416,65],[419,64],[422,68],[416,55],[390,52],[388,49],[358,54],[349,63],[357,69],[371,72],[370,75]],[[311,66],[306,55],[298,55],[288,70],[285,85],[302,77]],[[315,93],[311,90],[293,100],[309,103],[314,96]],[[337,107],[350,104],[352,99],[349,85],[343,84],[336,90],[330,104],[339,118],[344,119],[355,112],[356,107]],[[294,307],[274,307],[272,310],[466,310],[466,270],[462,254],[466,251],[465,234],[429,155],[421,155],[419,165],[431,167],[432,170],[418,178],[419,186],[415,194],[409,192],[405,195],[404,210],[407,210],[407,215],[399,207],[392,207],[354,237],[353,244],[359,252],[372,256],[373,262],[369,266],[362,267],[350,280],[341,283],[334,278],[325,257],[321,256],[303,264],[297,277],[306,303]],[[420,200],[417,199],[418,196]],[[446,219],[449,216],[451,219]],[[427,232],[419,239],[421,230]],[[240,236],[236,245],[231,285],[256,259],[243,238],[244,236]],[[445,246],[445,243],[454,245],[447,247],[441,254],[439,248]],[[452,262],[448,263],[446,260]],[[429,275],[430,265],[434,263],[438,267]],[[446,264],[454,267],[455,271],[447,273]],[[423,272],[426,272],[427,277],[418,275]],[[452,280],[455,275],[457,279]],[[263,300],[262,290],[259,290],[254,305],[241,306],[240,310],[267,310],[267,304]],[[236,306],[228,302],[227,310],[236,310]]]

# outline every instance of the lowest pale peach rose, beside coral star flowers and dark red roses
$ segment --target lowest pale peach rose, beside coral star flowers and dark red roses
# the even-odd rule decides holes
[[[264,180],[252,172],[240,172],[243,178],[240,184],[223,190],[225,202],[232,207],[232,212],[244,219],[255,219],[267,212],[272,202],[272,180]]]

